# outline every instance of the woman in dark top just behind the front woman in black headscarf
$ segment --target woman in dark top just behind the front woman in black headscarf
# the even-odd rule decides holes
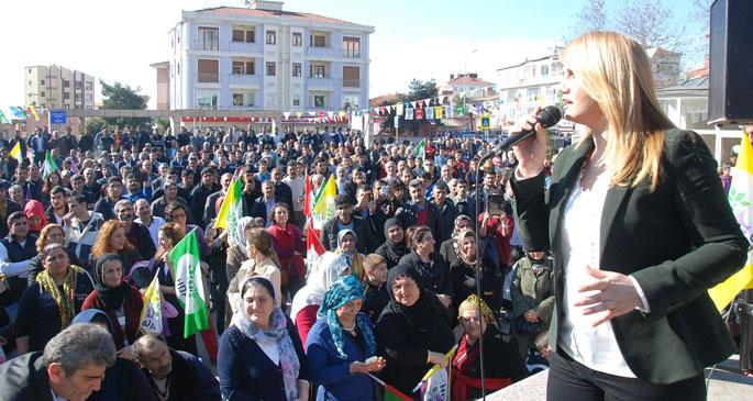
[[[409,254],[400,259],[400,265],[412,266],[422,277],[421,290],[430,290],[445,309],[450,308],[453,298],[450,267],[434,252],[434,235],[425,225],[419,225],[413,232],[413,246]]]

